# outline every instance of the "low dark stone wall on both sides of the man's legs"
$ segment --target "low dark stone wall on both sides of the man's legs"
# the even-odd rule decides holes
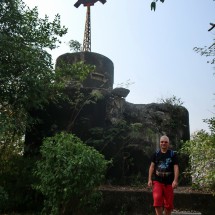
[[[100,207],[102,215],[150,215],[154,214],[151,191],[126,188],[102,189],[103,203]],[[215,196],[204,193],[175,191],[174,206],[180,211],[197,211],[202,215],[214,215]],[[124,213],[122,213],[124,212]]]

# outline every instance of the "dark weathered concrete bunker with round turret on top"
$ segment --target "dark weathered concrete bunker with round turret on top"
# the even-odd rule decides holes
[[[86,144],[94,146],[107,159],[113,159],[108,178],[112,182],[134,183],[145,180],[150,156],[159,147],[159,137],[170,137],[174,150],[180,149],[181,140],[190,138],[189,113],[185,107],[170,104],[132,104],[126,101],[129,90],[113,89],[114,65],[107,57],[93,52],[67,53],[58,57],[60,62],[83,61],[96,69],[83,82],[81,92],[86,98],[92,92],[100,99],[86,103],[74,119],[69,103],[50,104],[43,111],[33,111],[39,123],[26,133],[26,151],[36,152],[46,136],[56,132],[73,132]],[[71,97],[73,89],[68,87]],[[149,92],[150,93],[150,92]],[[71,124],[71,121],[73,123]],[[71,126],[68,126],[71,125]]]

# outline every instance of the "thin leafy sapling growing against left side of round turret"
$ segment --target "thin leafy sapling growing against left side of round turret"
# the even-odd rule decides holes
[[[69,124],[67,125],[67,131],[73,129],[75,120],[79,113],[86,104],[94,102],[95,95],[89,95],[86,97],[82,91],[82,82],[86,79],[90,72],[95,70],[94,65],[85,64],[83,61],[75,64],[65,63],[63,60],[57,63],[55,70],[55,81],[54,81],[54,95],[56,103],[62,104],[68,102],[70,108],[73,110]],[[65,93],[67,91],[67,93]],[[55,100],[52,98],[52,101]]]

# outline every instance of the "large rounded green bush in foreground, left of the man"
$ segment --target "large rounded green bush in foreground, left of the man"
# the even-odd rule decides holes
[[[60,133],[44,140],[41,156],[35,188],[46,198],[43,212],[78,214],[84,206],[90,208],[108,164],[103,155],[76,136]]]

